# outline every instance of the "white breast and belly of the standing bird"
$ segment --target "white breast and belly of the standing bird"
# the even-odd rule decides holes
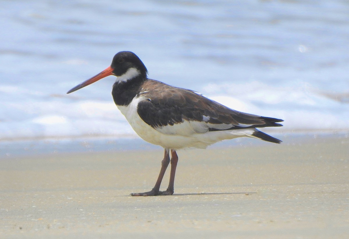
[[[164,134],[154,129],[144,122],[137,113],[137,105],[146,98],[134,98],[127,106],[117,106],[121,113],[126,117],[133,130],[145,141],[160,145],[165,149],[183,149],[183,148],[200,148],[205,149],[208,145],[218,141],[249,136],[253,129],[238,129],[213,131],[206,133],[191,133],[187,135]],[[185,123],[182,123],[185,126]],[[181,124],[176,127],[180,127]],[[166,126],[167,127],[167,126]],[[170,127],[170,126],[168,126]]]

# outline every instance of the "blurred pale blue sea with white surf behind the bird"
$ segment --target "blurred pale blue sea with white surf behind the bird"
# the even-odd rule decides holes
[[[74,151],[86,138],[132,144],[137,136],[112,101],[115,77],[66,94],[122,50],[141,58],[149,78],[285,120],[267,133],[348,132],[349,1],[1,0],[0,7],[0,157],[47,142]]]

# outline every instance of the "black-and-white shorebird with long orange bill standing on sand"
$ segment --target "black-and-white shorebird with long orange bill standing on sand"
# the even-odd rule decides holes
[[[282,141],[257,128],[279,127],[281,119],[239,112],[196,91],[167,85],[148,78],[148,70],[131,51],[120,51],[104,71],[70,89],[67,94],[109,75],[116,76],[113,100],[133,130],[145,141],[164,148],[164,158],[155,186],[132,196],[172,195],[178,162],[177,152],[185,148],[205,149],[208,145],[237,137]],[[171,159],[170,159],[171,154]],[[171,163],[169,186],[160,184]]]

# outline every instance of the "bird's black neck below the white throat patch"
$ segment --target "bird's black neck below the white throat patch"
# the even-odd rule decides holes
[[[127,81],[116,81],[113,85],[112,96],[116,105],[128,105],[140,93],[141,85],[146,77],[136,76]]]

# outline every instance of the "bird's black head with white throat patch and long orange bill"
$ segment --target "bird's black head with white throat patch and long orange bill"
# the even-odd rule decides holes
[[[136,54],[131,51],[120,51],[114,56],[109,67],[94,77],[70,89],[67,94],[81,89],[82,87],[88,86],[97,80],[107,77],[108,75],[117,76],[118,81],[128,81],[134,78],[138,78],[140,80],[146,79],[147,73],[148,71],[146,66],[143,64],[141,59],[136,56]]]

